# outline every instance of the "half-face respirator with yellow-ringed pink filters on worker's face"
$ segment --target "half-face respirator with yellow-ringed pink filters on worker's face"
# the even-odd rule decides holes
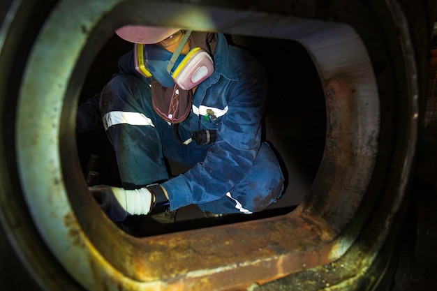
[[[194,47],[188,54],[181,54],[191,31],[186,31],[174,53],[161,45],[135,43],[135,69],[145,77],[154,77],[163,87],[175,84],[189,90],[214,73],[214,62],[207,51]]]

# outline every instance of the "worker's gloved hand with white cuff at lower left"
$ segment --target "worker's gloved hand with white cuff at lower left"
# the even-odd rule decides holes
[[[125,190],[98,185],[89,187],[89,191],[112,221],[124,221],[127,216],[133,214],[149,214],[154,202],[154,195],[147,188]]]

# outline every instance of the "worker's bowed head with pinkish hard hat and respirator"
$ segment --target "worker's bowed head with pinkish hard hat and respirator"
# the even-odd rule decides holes
[[[211,56],[200,47],[191,47],[191,31],[161,27],[126,26],[117,35],[135,43],[135,68],[145,77],[154,77],[163,87],[175,83],[189,90],[214,72]]]

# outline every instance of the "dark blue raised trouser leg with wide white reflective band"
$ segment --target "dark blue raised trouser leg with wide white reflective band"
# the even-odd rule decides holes
[[[124,188],[168,179],[149,85],[138,77],[117,75],[103,89],[100,106]]]

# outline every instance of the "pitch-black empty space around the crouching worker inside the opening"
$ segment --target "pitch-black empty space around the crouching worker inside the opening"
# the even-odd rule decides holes
[[[124,230],[136,236],[174,232],[198,227],[235,223],[286,214],[295,209],[309,191],[325,146],[326,110],[323,87],[309,52],[295,40],[225,34],[232,45],[249,50],[265,67],[268,97],[262,122],[263,140],[269,142],[281,162],[286,188],[283,196],[258,214],[205,218],[195,205],[178,209],[176,223],[161,225],[147,216],[128,217]],[[80,103],[94,96],[117,72],[117,60],[132,49],[114,35],[103,46],[89,69]],[[103,128],[78,137],[77,148],[84,177],[95,184],[120,186],[117,162]],[[177,175],[189,167],[168,161],[169,172]],[[126,227],[127,226],[127,227]],[[142,231],[141,231],[142,230]]]

